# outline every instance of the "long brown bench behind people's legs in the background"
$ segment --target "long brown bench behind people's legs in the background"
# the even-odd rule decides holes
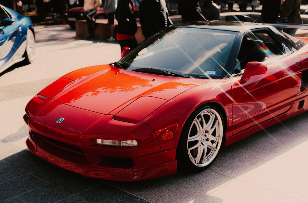
[[[115,20],[115,30],[118,25],[118,22]],[[144,40],[144,36],[142,35],[140,23],[137,22],[138,30],[135,34],[136,40],[138,43]],[[116,31],[115,31],[116,34]],[[116,38],[114,34],[114,38]],[[87,30],[87,22],[86,20],[78,20],[76,21],[76,37],[84,38],[88,35]],[[94,37],[99,39],[107,39],[111,35],[110,26],[108,25],[108,19],[97,19],[96,25],[94,28]]]

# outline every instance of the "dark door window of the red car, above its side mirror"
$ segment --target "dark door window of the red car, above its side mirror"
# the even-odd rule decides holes
[[[282,43],[273,38],[268,30],[258,30],[244,35],[237,59],[243,70],[248,62],[262,62],[281,54]]]

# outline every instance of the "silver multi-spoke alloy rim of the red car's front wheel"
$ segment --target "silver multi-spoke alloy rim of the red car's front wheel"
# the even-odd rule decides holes
[[[190,161],[205,167],[213,162],[221,147],[223,124],[220,114],[214,109],[202,110],[193,120],[187,139]]]

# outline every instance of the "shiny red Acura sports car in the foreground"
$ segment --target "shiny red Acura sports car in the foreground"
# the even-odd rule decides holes
[[[272,26],[176,25],[39,92],[26,106],[26,144],[87,177],[203,170],[221,147],[305,112],[307,82],[308,45]]]

